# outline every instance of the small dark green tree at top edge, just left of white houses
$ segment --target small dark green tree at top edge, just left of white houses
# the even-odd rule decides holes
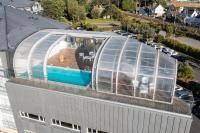
[[[136,1],[135,0],[123,0],[122,9],[126,11],[135,11]]]

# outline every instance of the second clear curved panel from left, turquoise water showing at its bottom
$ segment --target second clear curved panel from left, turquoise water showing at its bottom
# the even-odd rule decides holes
[[[49,47],[53,43],[55,43],[60,37],[62,37],[61,34],[49,35],[35,48],[31,58],[31,70],[33,78],[44,79],[43,64],[45,60],[45,55]]]

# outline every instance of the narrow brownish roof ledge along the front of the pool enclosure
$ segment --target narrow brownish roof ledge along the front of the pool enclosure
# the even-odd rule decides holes
[[[167,103],[150,101],[150,100],[140,99],[140,98],[135,98],[135,97],[127,97],[127,96],[97,92],[95,90],[92,90],[90,87],[87,87],[86,89],[78,89],[76,88],[76,86],[59,84],[55,82],[45,82],[45,81],[35,80],[35,79],[28,80],[28,79],[22,79],[22,78],[13,78],[13,79],[10,79],[8,82],[26,85],[26,86],[38,87],[38,88],[47,89],[51,91],[58,91],[58,92],[63,92],[63,93],[79,95],[79,96],[85,96],[89,98],[96,98],[96,99],[119,102],[123,104],[134,105],[134,106],[146,107],[146,108],[160,110],[160,111],[167,111],[169,113],[176,113],[180,115],[182,114],[186,116],[191,116],[190,104],[176,97],[173,98],[174,102],[172,104],[167,104]]]

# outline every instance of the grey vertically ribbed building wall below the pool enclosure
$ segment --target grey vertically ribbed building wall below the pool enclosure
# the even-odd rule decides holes
[[[70,94],[53,87],[9,82],[7,88],[19,133],[189,133],[192,122],[190,115]]]

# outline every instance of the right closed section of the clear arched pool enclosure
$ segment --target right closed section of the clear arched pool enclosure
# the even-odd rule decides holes
[[[172,102],[176,60],[127,37],[110,37],[93,65],[93,89]]]

